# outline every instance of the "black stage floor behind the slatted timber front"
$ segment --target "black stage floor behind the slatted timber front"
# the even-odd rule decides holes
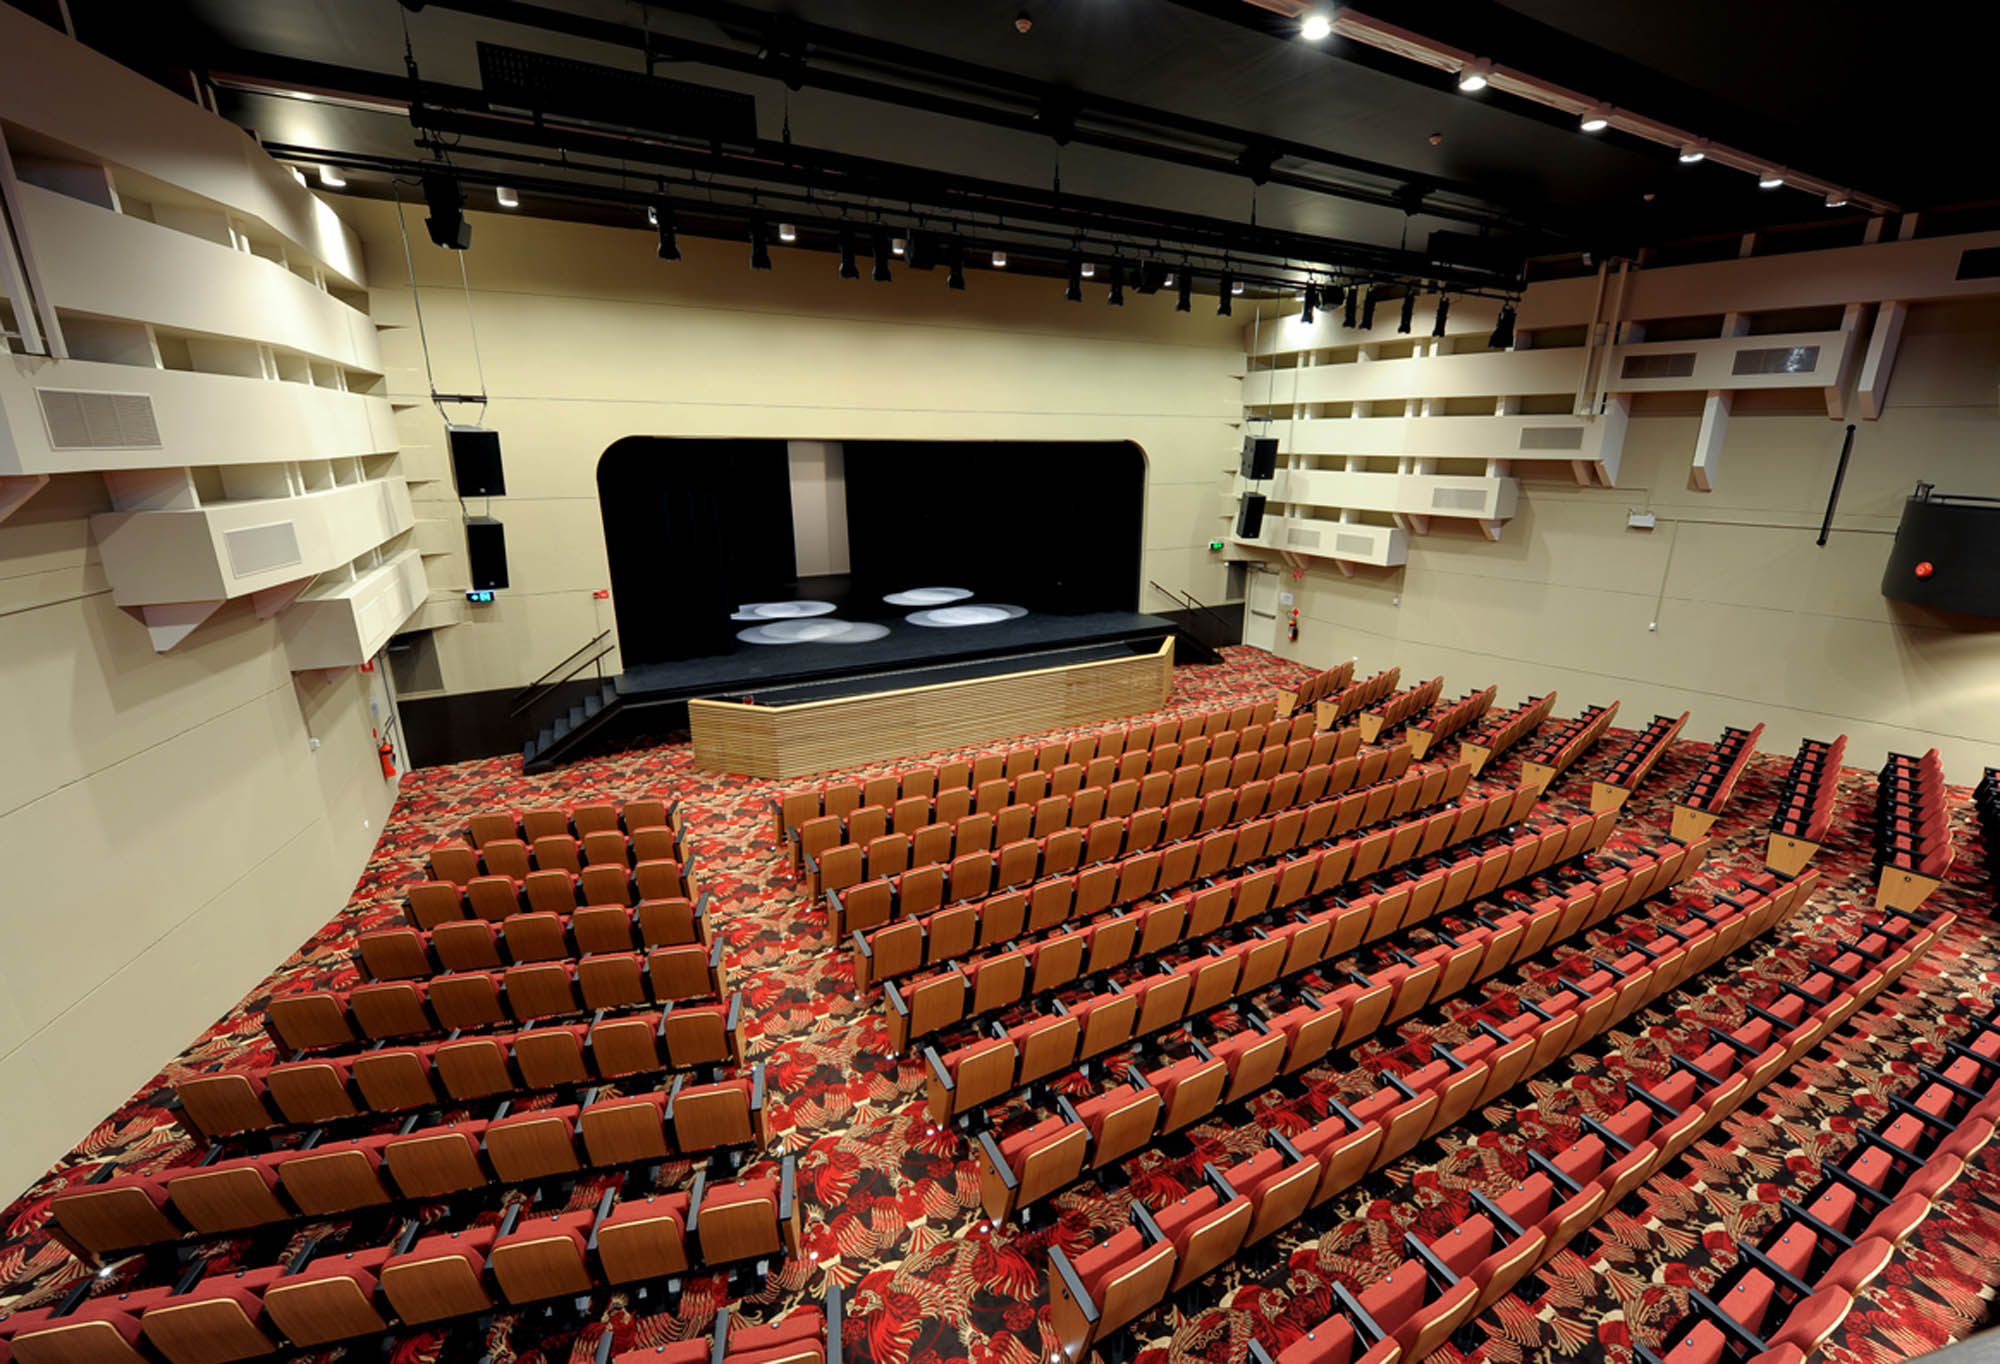
[[[906,620],[884,624],[888,634],[868,644],[738,644],[730,654],[640,664],[616,678],[618,698],[626,706],[684,704],[696,696],[768,704],[826,700],[1100,656],[1118,658],[1136,648],[1158,648],[1162,638],[1174,634],[1174,622],[1138,612],[1030,612],[990,626],[948,630],[912,626]]]

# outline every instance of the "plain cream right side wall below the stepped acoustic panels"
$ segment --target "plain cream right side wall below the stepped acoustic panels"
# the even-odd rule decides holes
[[[1850,762],[1936,744],[1956,782],[2000,764],[2000,622],[1888,602],[1882,566],[1916,480],[2000,494],[2000,302],[1916,304],[1880,420],[1858,422],[1840,510],[1814,544],[1844,424],[1816,392],[1746,394],[1714,492],[1688,488],[1700,394],[1640,398],[1616,488],[1522,474],[1498,544],[1438,518],[1402,570],[1316,564],[1280,590],[1326,666],[1444,672],[1504,704],[1558,688],[1558,714],[1620,700],[1620,722],[1690,710],[1690,738],[1766,724],[1762,748],[1850,736]],[[1656,530],[1628,530],[1652,510]],[[1656,630],[1648,630],[1658,622]]]

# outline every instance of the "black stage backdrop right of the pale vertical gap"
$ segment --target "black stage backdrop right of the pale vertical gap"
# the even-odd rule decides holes
[[[852,614],[920,586],[1032,612],[1138,610],[1146,454],[1130,440],[842,448]]]

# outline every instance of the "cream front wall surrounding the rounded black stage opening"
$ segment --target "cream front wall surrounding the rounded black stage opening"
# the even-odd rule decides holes
[[[432,582],[468,582],[442,422],[424,402],[422,352],[394,206],[346,200],[370,268],[370,312],[402,416]],[[1236,464],[1242,348],[1214,300],[1176,314],[1172,294],[1128,292],[1108,308],[1092,288],[1062,300],[1060,280],[968,270],[952,294],[944,270],[896,262],[894,284],[840,280],[826,252],[772,248],[776,268],[748,268],[748,246],[682,238],[686,258],[656,258],[654,234],[472,214],[466,270],[478,354],[500,430],[512,586],[436,632],[450,692],[530,682],[612,626],[598,520],[596,462],[622,436],[782,436],[796,440],[1136,440],[1146,448],[1146,550],[1140,610],[1164,610],[1154,578],[1204,602],[1224,596],[1226,474]],[[424,322],[440,392],[478,388],[458,262],[430,246],[410,212]],[[472,410],[454,410],[472,420]],[[478,502],[472,512],[484,510]],[[948,508],[940,508],[948,514]],[[754,514],[754,508],[750,510]],[[448,524],[446,524],[448,522]],[[1088,508],[1050,488],[1048,516],[1022,526],[1022,552],[1090,534]],[[670,586],[670,584],[668,584]]]

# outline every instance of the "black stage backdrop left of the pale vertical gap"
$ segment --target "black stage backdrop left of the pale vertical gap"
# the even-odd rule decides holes
[[[738,604],[792,596],[782,440],[626,436],[598,458],[598,506],[626,668],[728,654]]]

